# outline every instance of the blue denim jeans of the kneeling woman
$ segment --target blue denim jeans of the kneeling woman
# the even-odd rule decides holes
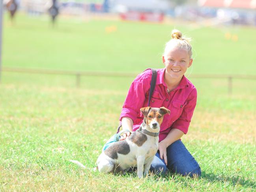
[[[189,153],[185,145],[178,140],[166,148],[167,166],[164,159],[160,158],[159,152],[156,153],[150,167],[150,171],[155,174],[164,174],[168,169],[172,173],[179,173],[181,175],[192,177],[196,174],[201,175],[201,168]]]

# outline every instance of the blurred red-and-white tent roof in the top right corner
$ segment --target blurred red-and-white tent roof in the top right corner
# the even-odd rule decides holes
[[[256,0],[198,0],[199,6],[256,9]]]

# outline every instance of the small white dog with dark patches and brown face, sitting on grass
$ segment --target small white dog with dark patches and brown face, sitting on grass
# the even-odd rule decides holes
[[[165,107],[144,107],[140,111],[144,115],[140,128],[125,140],[110,145],[99,155],[97,165],[100,172],[124,174],[130,168],[137,167],[139,178],[148,175],[158,149],[158,135],[163,116],[170,114],[170,110]]]

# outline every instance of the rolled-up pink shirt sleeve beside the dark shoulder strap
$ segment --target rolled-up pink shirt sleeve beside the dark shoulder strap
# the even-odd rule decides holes
[[[130,117],[133,122],[135,121],[145,102],[145,93],[150,88],[151,76],[151,73],[145,71],[132,82],[123,104],[120,121],[123,117]]]

